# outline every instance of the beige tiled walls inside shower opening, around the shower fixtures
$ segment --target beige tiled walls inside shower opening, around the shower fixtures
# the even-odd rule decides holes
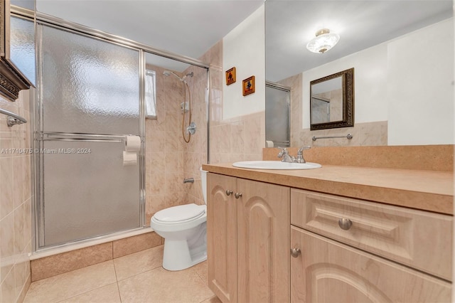
[[[156,71],[157,107],[157,119],[146,119],[146,225],[150,225],[156,211],[180,204],[203,203],[199,168],[207,162],[207,73],[197,67],[182,73],[194,73],[193,78],[187,77],[186,81],[191,92],[191,120],[196,122],[197,131],[186,143],[180,108],[188,99],[185,99],[185,85],[174,77],[164,76],[164,68],[147,68]],[[184,178],[194,178],[194,184],[183,184]]]

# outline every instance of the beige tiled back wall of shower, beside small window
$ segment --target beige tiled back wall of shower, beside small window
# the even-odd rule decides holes
[[[179,132],[178,109],[184,100],[184,86],[163,68],[147,66],[156,72],[156,116],[146,119],[146,225],[163,208],[177,205],[183,188],[183,144]]]

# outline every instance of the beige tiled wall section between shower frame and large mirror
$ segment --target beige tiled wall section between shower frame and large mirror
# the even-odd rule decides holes
[[[223,45],[212,48],[210,100],[210,163],[262,159],[265,147],[265,112],[223,119]]]

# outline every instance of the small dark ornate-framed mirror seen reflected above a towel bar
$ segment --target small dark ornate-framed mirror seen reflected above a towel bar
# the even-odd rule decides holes
[[[310,82],[310,129],[354,126],[354,69]]]

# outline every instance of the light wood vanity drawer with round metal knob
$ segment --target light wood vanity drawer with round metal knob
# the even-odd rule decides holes
[[[292,225],[446,280],[451,280],[452,221],[437,213],[291,189]]]

